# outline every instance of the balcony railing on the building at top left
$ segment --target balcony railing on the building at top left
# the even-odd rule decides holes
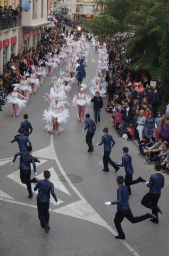
[[[0,30],[16,28],[21,26],[21,15],[0,17]]]

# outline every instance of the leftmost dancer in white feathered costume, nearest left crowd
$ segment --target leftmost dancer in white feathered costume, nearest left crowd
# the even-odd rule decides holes
[[[13,118],[15,118],[15,116],[19,116],[19,113],[21,111],[22,108],[26,107],[26,101],[25,100],[20,100],[18,98],[18,96],[22,97],[23,99],[26,99],[26,97],[24,97],[22,94],[20,94],[19,92],[17,92],[17,88],[14,87],[14,90],[12,93],[10,93],[9,95],[7,95],[7,97],[4,99],[7,99],[7,104],[12,104],[12,114],[13,114]]]

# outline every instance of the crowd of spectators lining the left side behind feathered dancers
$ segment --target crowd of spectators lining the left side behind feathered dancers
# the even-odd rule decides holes
[[[61,46],[66,42],[62,33],[65,31],[65,24],[71,25],[72,22],[60,15],[57,15],[53,26],[43,28],[42,37],[35,47],[24,47],[22,54],[12,54],[6,69],[0,69],[0,110],[5,104],[4,99],[13,91],[14,85],[19,84],[22,77],[31,74],[32,66],[35,68],[39,65],[40,60],[48,61],[48,53],[58,54]]]

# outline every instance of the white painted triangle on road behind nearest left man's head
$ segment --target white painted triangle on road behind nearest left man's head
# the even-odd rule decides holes
[[[57,173],[54,170],[54,167],[51,167],[50,169],[48,169],[50,171],[51,177],[50,177],[50,181],[52,183],[54,183],[54,188],[61,190],[62,192],[64,192],[65,194],[71,196],[71,194],[69,193],[69,191],[65,188],[65,186],[63,185],[63,183],[61,182],[60,178],[58,177]],[[44,173],[40,173],[39,175],[37,175],[38,179],[44,179]]]

